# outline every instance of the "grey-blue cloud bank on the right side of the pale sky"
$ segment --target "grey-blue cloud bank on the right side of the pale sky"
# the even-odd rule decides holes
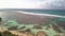
[[[64,0],[44,0],[42,2],[46,8],[54,8],[54,10],[65,10],[65,1]]]

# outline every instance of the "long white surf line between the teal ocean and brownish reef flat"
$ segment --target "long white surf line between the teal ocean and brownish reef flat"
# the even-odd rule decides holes
[[[10,11],[9,11],[10,12]],[[11,12],[17,12],[17,13],[22,13],[22,14],[28,14],[28,15],[40,15],[40,16],[50,16],[50,17],[60,17],[60,18],[65,18],[65,16],[60,16],[60,15],[51,15],[51,14],[37,14],[37,13],[28,13],[28,12],[24,12],[24,11],[11,11]]]

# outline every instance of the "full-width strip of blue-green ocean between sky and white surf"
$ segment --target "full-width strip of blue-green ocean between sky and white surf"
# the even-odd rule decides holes
[[[51,15],[60,15],[65,16],[65,10],[25,10],[25,8],[5,8],[0,11],[24,11],[28,13],[37,13],[37,14],[51,14]]]

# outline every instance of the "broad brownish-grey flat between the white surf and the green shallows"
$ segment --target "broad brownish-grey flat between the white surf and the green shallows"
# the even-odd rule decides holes
[[[16,20],[18,23],[46,23],[49,19],[55,18],[52,16],[14,11],[0,12],[0,15],[6,20]]]

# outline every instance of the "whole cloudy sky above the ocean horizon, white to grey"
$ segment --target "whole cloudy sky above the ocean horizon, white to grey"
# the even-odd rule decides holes
[[[65,0],[0,0],[0,8],[65,10]]]

